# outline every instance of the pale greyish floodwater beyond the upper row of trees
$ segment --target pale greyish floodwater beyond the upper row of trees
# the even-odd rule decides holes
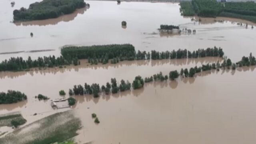
[[[60,48],[65,45],[94,44],[133,44],[136,50],[177,50],[207,48],[220,46],[232,60],[239,60],[249,52],[256,53],[253,48],[256,39],[256,28],[246,29],[238,26],[240,20],[232,19],[222,23],[202,24],[191,22],[191,18],[180,16],[178,3],[86,1],[89,9],[80,9],[73,14],[56,19],[11,23],[12,11],[36,0],[17,1],[12,8],[10,2],[0,1],[4,6],[0,10],[0,53],[53,49],[55,51],[3,54],[0,60],[11,56],[37,58],[38,56],[60,55]],[[127,22],[127,28],[121,22]],[[223,18],[225,20],[225,18]],[[227,20],[230,20],[227,18]],[[242,21],[245,23],[245,21]],[[179,25],[180,28],[195,29],[196,34],[166,36],[158,32],[160,24]],[[30,37],[30,32],[34,36]],[[240,40],[243,40],[243,43]],[[244,45],[246,44],[246,45]],[[242,51],[240,49],[243,49]]]

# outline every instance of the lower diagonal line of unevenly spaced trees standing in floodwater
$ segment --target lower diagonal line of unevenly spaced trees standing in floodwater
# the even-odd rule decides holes
[[[141,76],[136,76],[130,84],[129,81],[121,80],[120,84],[117,83],[116,78],[111,78],[110,82],[107,82],[106,85],[100,86],[99,84],[92,84],[89,85],[87,83],[82,86],[74,85],[73,89],[69,89],[69,95],[84,95],[84,94],[93,94],[95,98],[99,97],[100,94],[116,94],[118,92],[124,92],[126,90],[131,90],[133,88],[134,90],[143,88],[145,83],[153,82],[153,81],[166,81],[168,79],[170,80],[176,80],[179,76],[182,77],[194,77],[195,74],[208,71],[208,70],[217,70],[219,71],[220,68],[227,68],[232,70],[235,70],[237,67],[241,66],[255,66],[256,65],[256,58],[252,56],[252,53],[250,53],[250,56],[242,57],[242,60],[239,62],[233,63],[229,58],[225,58],[222,63],[219,61],[217,63],[208,63],[203,64],[202,66],[195,66],[192,68],[182,68],[180,72],[178,70],[172,70],[169,72],[169,75],[163,75],[162,72],[158,74],[154,74],[153,76],[142,78]]]

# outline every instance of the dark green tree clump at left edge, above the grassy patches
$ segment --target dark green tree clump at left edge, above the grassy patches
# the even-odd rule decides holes
[[[20,91],[8,90],[6,92],[0,92],[0,104],[12,104],[26,100],[27,96]]]

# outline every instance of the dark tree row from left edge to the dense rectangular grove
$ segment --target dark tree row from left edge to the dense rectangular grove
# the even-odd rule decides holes
[[[30,68],[44,68],[44,67],[55,67],[74,64],[78,65],[80,62],[77,58],[65,59],[62,56],[56,58],[55,56],[49,57],[38,57],[36,60],[32,60],[29,56],[27,60],[24,60],[22,57],[10,58],[9,60],[4,60],[0,63],[0,71],[22,71]]]

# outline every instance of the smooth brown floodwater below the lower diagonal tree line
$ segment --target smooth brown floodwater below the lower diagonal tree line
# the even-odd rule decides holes
[[[187,83],[151,83],[99,100],[79,97],[77,115],[85,127],[77,139],[95,144],[253,144],[254,75],[251,70],[232,75],[230,70],[188,78]]]

